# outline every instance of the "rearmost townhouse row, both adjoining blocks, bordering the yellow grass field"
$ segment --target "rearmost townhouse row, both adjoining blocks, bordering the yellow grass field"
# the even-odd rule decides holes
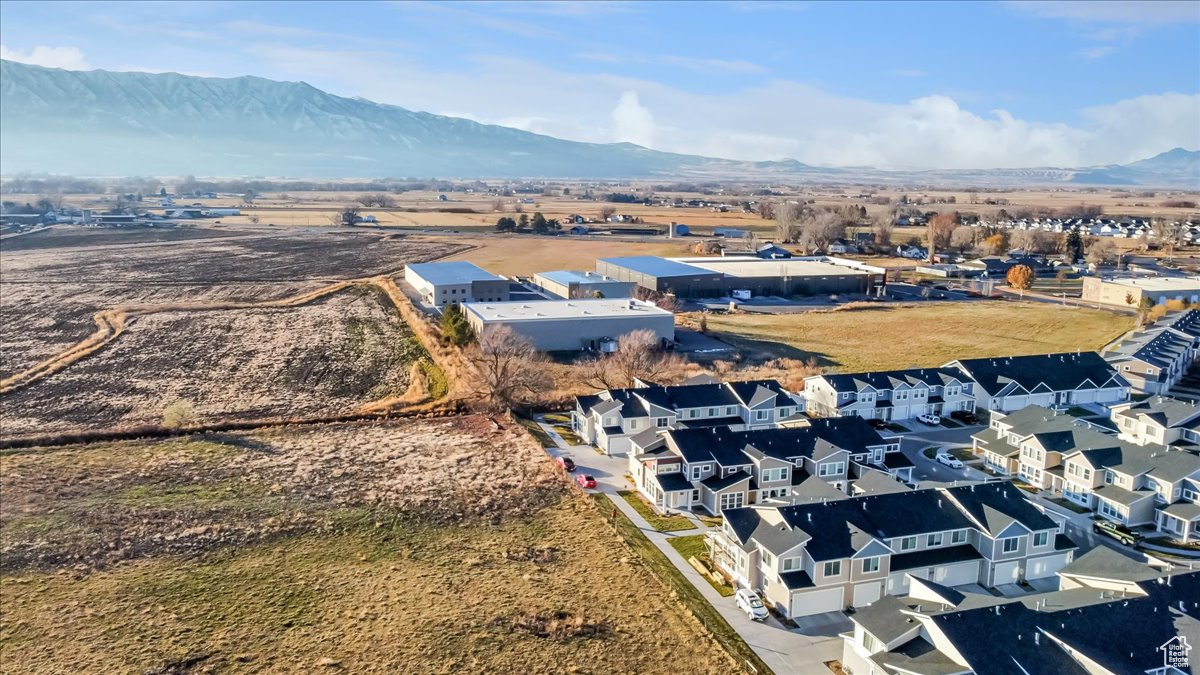
[[[805,412],[904,420],[955,411],[1015,411],[1129,399],[1129,382],[1096,352],[961,359],[942,368],[818,375],[804,381]]]

